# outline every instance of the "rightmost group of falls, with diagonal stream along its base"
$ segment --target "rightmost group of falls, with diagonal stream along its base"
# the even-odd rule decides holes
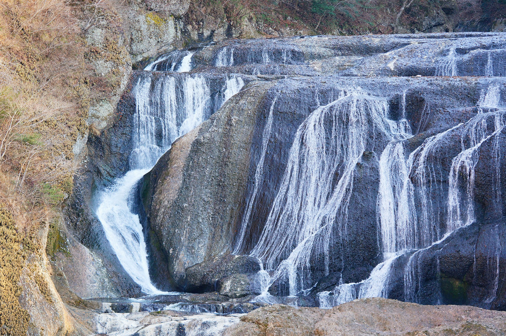
[[[498,109],[499,101],[499,86],[489,85],[480,95],[478,114],[466,123],[427,138],[406,157],[404,143],[410,134],[402,132],[401,127],[401,121],[405,118],[403,95],[403,113],[398,128],[400,133],[388,143],[379,159],[376,214],[384,262],[372,270],[369,278],[359,283],[342,283],[332,291],[319,293],[320,307],[329,308],[357,298],[388,297],[393,262],[413,250],[404,267],[404,299],[419,302],[423,278],[420,260],[425,251],[441,243],[455,230],[476,220],[475,168],[480,158],[480,148],[487,141],[492,141],[494,148],[494,157],[490,162],[495,173],[492,179],[494,203],[501,209],[498,136],[506,127],[506,118],[505,111]],[[488,112],[484,112],[487,109]],[[445,188],[441,182],[445,179],[442,176],[439,149],[447,146],[448,141],[457,134],[460,135],[460,151],[451,159],[447,200],[445,203],[434,203],[432,195],[442,197]],[[438,223],[444,223],[444,228],[440,229]],[[496,244],[495,250],[500,251],[500,248],[500,244]],[[487,268],[487,272],[495,272],[495,285],[499,276],[498,253],[494,256],[493,265]],[[488,302],[494,300],[496,292],[495,288],[489,293]]]

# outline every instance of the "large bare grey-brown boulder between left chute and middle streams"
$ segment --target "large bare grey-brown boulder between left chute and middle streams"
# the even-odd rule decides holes
[[[187,267],[230,250],[252,128],[270,86],[251,84],[247,94],[231,98],[219,114],[177,140],[148,177],[151,194],[145,203],[151,229],[180,285]]]

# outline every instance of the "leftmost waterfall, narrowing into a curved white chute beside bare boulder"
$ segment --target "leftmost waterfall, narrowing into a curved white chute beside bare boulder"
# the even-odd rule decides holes
[[[190,70],[191,56],[188,53],[181,59],[179,72]],[[140,285],[142,291],[160,294],[163,292],[153,285],[149,276],[143,228],[135,211],[139,181],[178,137],[208,118],[239,92],[244,82],[238,76],[226,80],[222,89],[223,97],[213,107],[209,84],[202,75],[153,78],[147,74],[141,75],[132,89],[136,111],[133,116],[130,170],[114,181],[111,187],[100,191],[96,214],[124,270]]]

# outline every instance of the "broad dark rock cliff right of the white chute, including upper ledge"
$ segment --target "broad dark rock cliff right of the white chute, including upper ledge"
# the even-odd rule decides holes
[[[504,80],[474,76],[503,73],[506,64],[501,56],[503,41],[502,35],[481,33],[306,37],[265,44],[260,40],[239,41],[197,51],[196,72],[265,71],[267,74],[257,75],[261,81],[250,83],[199,129],[176,141],[146,178],[149,183],[143,195],[150,227],[161,242],[169,272],[176,282],[184,287],[185,281],[189,281],[186,283],[191,286],[187,288],[191,290],[200,291],[207,286],[206,290],[218,289],[231,296],[243,295],[248,290],[254,293],[256,289],[249,287],[253,278],[243,271],[231,271],[226,276],[220,274],[205,281],[189,280],[194,278],[193,265],[201,263],[196,269],[212,270],[213,267],[205,266],[212,264],[207,262],[235,253],[253,255],[264,263],[271,276],[270,282],[267,280],[264,285],[270,287],[271,294],[302,297],[311,289],[309,297],[301,298],[303,305],[322,304],[318,292],[327,292],[326,298],[333,304],[338,303],[334,300],[344,300],[340,299],[346,297],[344,289],[337,289],[339,283],[349,285],[347,300],[365,295],[359,288],[372,281],[368,277],[383,265],[380,263],[385,261],[383,253],[388,248],[386,233],[382,231],[386,225],[382,223],[382,216],[386,215],[381,213],[384,209],[378,204],[380,196],[386,197],[381,190],[385,188],[381,183],[386,181],[386,172],[397,174],[397,171],[394,168],[385,171],[382,165],[386,164],[385,155],[389,153],[387,146],[399,142],[403,155],[388,158],[394,160],[388,164],[405,160],[399,164],[406,164],[411,173],[399,184],[411,183],[414,201],[426,205],[410,208],[410,216],[414,218],[413,227],[409,228],[411,233],[395,233],[395,239],[412,234],[406,239],[413,242],[396,240],[395,244],[408,244],[409,252],[397,251],[402,256],[392,262],[388,271],[390,282],[385,280],[378,285],[385,285],[386,289],[375,295],[408,301],[429,298],[421,303],[441,302],[437,296],[443,295],[448,300],[444,302],[456,303],[451,297],[458,290],[464,290],[468,299],[460,303],[502,307],[499,299],[502,280],[496,281],[500,279],[497,274],[503,272],[502,249],[495,242],[495,236],[478,242],[478,233],[468,235],[465,231],[455,231],[450,236],[444,233],[454,230],[449,226],[455,217],[447,217],[456,211],[448,208],[449,197],[459,197],[460,213],[471,206],[465,197],[473,197],[474,205],[469,209],[473,209],[477,222],[490,223],[484,224],[487,229],[483,230],[502,226],[500,208],[506,204],[493,190],[506,182],[503,181],[506,172],[500,164],[496,166],[498,173],[487,169],[484,162],[497,163],[502,157],[498,148],[503,141]],[[364,114],[350,116],[357,111]],[[314,119],[318,113],[322,113],[321,123]],[[368,125],[364,129],[353,123],[362,117],[361,125]],[[392,131],[390,122],[396,125],[405,122],[402,127],[408,127],[409,134]],[[389,126],[384,128],[385,124]],[[487,139],[478,133],[485,137],[483,141],[470,136],[477,134],[480,127],[486,128],[480,132],[487,135],[491,132]],[[312,138],[313,129],[318,130],[315,134],[321,138]],[[333,175],[327,177],[332,186],[328,194],[318,201],[312,198],[325,181],[319,180],[319,159],[326,164],[342,159],[339,155],[348,155],[346,151],[334,157],[334,150],[328,148],[332,148],[335,139],[346,142],[356,139],[357,134],[367,136],[360,138],[360,142],[340,145],[343,148],[363,145],[355,164],[344,171],[349,161],[338,161],[341,163],[336,163]],[[311,151],[320,146],[327,148],[326,151],[322,149],[316,154]],[[471,190],[466,189],[471,180],[462,174],[455,175],[452,165],[458,163],[453,162],[459,153],[468,147],[471,152],[476,146],[480,147],[481,155],[480,159],[476,157],[476,165],[469,168],[466,163],[460,163],[461,170],[472,169],[473,174],[473,194],[465,196]],[[408,160],[410,153],[412,158]],[[306,166],[310,159],[315,160],[311,161],[311,167],[316,168]],[[415,164],[420,164],[420,168]],[[419,177],[422,170],[433,165],[434,172],[426,178]],[[326,204],[336,190],[333,188],[347,183],[341,181],[347,174],[353,176],[352,183],[339,193],[346,195],[345,203],[329,205],[328,209],[320,207],[319,202]],[[496,176],[500,178],[497,180]],[[449,186],[451,179],[460,180]],[[427,181],[432,181],[430,188],[433,189],[425,184]],[[299,190],[301,184],[309,189]],[[318,188],[310,189],[313,185]],[[395,188],[395,184],[392,182],[390,187]],[[298,213],[308,204],[316,204],[312,218],[322,221],[330,218],[330,222],[308,228],[314,229],[315,235],[325,227],[329,229],[325,235],[314,238],[318,240],[309,240],[311,245],[303,246],[306,240],[293,232],[304,227],[305,221],[312,220],[303,216],[309,209]],[[340,209],[337,214],[333,213],[335,209]],[[430,226],[423,229],[427,216],[432,218]],[[451,225],[465,226],[454,223]],[[479,236],[486,237],[484,233]],[[446,247],[441,249],[437,241],[443,238],[441,244]],[[457,249],[459,244],[469,248]],[[481,251],[479,244],[495,246],[495,250],[492,252],[489,247]],[[450,246],[455,246],[454,250]],[[485,257],[481,255],[488,256],[496,265],[494,270],[487,266],[490,276],[470,271],[470,265],[485,267]],[[416,281],[425,282],[421,287],[416,287],[415,280],[406,282],[410,270],[419,269],[414,266],[417,259],[424,259],[428,267],[421,268],[424,274],[412,275]],[[445,268],[452,263],[459,267]],[[475,280],[470,280],[471,274]],[[469,285],[471,282],[474,285]],[[240,286],[250,289],[243,290]],[[227,289],[232,287],[235,287],[232,291]],[[415,296],[409,297],[411,292]],[[434,295],[426,296],[424,292]],[[484,292],[497,293],[497,297],[487,297]]]

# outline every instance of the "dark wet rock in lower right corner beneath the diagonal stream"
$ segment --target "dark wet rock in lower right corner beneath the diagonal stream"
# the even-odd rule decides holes
[[[406,280],[400,272],[390,280],[389,297],[503,310],[504,289],[498,276],[506,260],[500,243],[504,229],[504,219],[476,222],[454,232],[444,243],[399,259],[395,268],[404,269],[410,263],[411,276],[420,279],[416,297],[406,297]]]

